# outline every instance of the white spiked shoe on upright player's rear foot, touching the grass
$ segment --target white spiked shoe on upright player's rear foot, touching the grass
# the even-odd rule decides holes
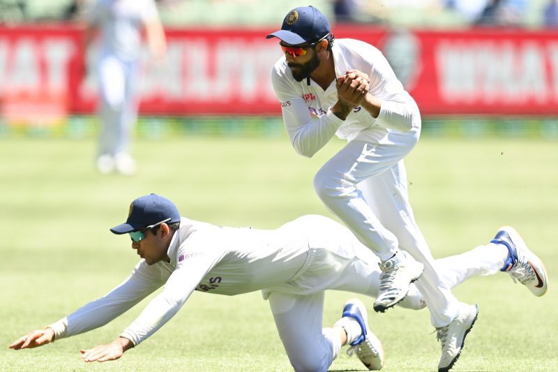
[[[446,327],[436,329],[436,338],[442,343],[442,358],[438,372],[446,372],[457,362],[465,345],[465,337],[478,317],[478,305],[460,304],[459,313]]]

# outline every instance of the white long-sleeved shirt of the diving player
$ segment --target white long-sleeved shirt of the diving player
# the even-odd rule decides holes
[[[322,290],[329,285],[327,275],[295,280],[312,264],[309,251],[327,248],[335,257],[352,258],[356,254],[352,241],[359,245],[349,230],[324,216],[303,216],[277,230],[222,228],[182,218],[167,251],[169,263],[150,266],[141,260],[114,290],[50,327],[56,339],[87,332],[110,322],[166,283],[163,292],[121,334],[137,345],[172,318],[194,290],[220,295],[264,289],[288,293]],[[335,269],[333,261],[327,260],[326,269]]]

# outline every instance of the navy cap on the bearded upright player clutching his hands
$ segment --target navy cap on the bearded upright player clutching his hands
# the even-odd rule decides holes
[[[313,43],[331,34],[326,16],[313,6],[294,8],[287,14],[279,31],[266,38],[279,38],[290,45]]]

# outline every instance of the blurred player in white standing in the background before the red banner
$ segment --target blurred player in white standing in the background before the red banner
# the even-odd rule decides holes
[[[133,174],[130,134],[137,119],[137,82],[142,31],[152,57],[163,59],[165,32],[153,0],[96,0],[87,15],[86,47],[100,34],[96,72],[99,83],[100,135],[97,168]]]

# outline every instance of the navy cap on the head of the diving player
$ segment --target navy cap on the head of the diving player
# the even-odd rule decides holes
[[[126,222],[114,226],[110,231],[121,235],[126,234],[126,232],[142,230],[142,228],[162,221],[166,223],[180,222],[179,210],[167,198],[156,194],[149,194],[134,200],[130,204]]]

